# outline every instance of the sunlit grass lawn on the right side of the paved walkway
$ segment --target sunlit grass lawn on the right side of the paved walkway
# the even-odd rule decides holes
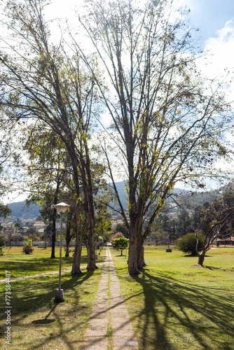
[[[165,248],[145,246],[148,266],[135,277],[111,248],[139,349],[234,349],[234,248],[208,251],[204,268]]]

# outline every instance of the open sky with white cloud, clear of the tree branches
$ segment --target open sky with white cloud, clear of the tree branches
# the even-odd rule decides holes
[[[186,6],[190,25],[199,29],[196,34],[201,38],[202,50],[212,54],[209,65],[202,67],[210,76],[219,76],[223,68],[234,72],[234,1],[233,0],[177,0],[181,6]],[[74,5],[77,0],[53,0],[48,6],[48,15],[53,17],[68,17],[74,20]],[[72,22],[73,22],[72,20]],[[234,76],[234,73],[233,73]],[[234,83],[227,92],[228,99],[234,100]],[[13,195],[10,202],[25,200],[25,195]],[[7,200],[9,202],[9,200]]]

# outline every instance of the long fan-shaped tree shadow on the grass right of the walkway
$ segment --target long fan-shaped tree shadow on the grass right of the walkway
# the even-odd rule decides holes
[[[199,349],[233,349],[234,307],[222,288],[153,276],[147,269],[134,278],[144,293],[137,314],[142,349],[180,349],[179,339],[185,336],[188,349],[189,342]]]

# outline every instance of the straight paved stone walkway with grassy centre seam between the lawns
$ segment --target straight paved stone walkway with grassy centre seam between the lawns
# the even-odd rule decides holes
[[[105,350],[107,346],[113,350],[138,349],[108,247],[82,349]]]

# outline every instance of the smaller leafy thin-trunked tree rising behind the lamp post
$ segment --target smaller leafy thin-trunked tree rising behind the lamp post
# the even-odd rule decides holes
[[[29,125],[25,150],[29,153],[27,173],[32,191],[27,197],[27,205],[38,203],[43,218],[48,218],[52,224],[51,256],[55,258],[56,218],[55,205],[64,192],[64,182],[67,180],[67,154],[61,146],[59,137],[44,125]],[[62,187],[63,185],[63,187]],[[72,196],[74,193],[72,194]]]

